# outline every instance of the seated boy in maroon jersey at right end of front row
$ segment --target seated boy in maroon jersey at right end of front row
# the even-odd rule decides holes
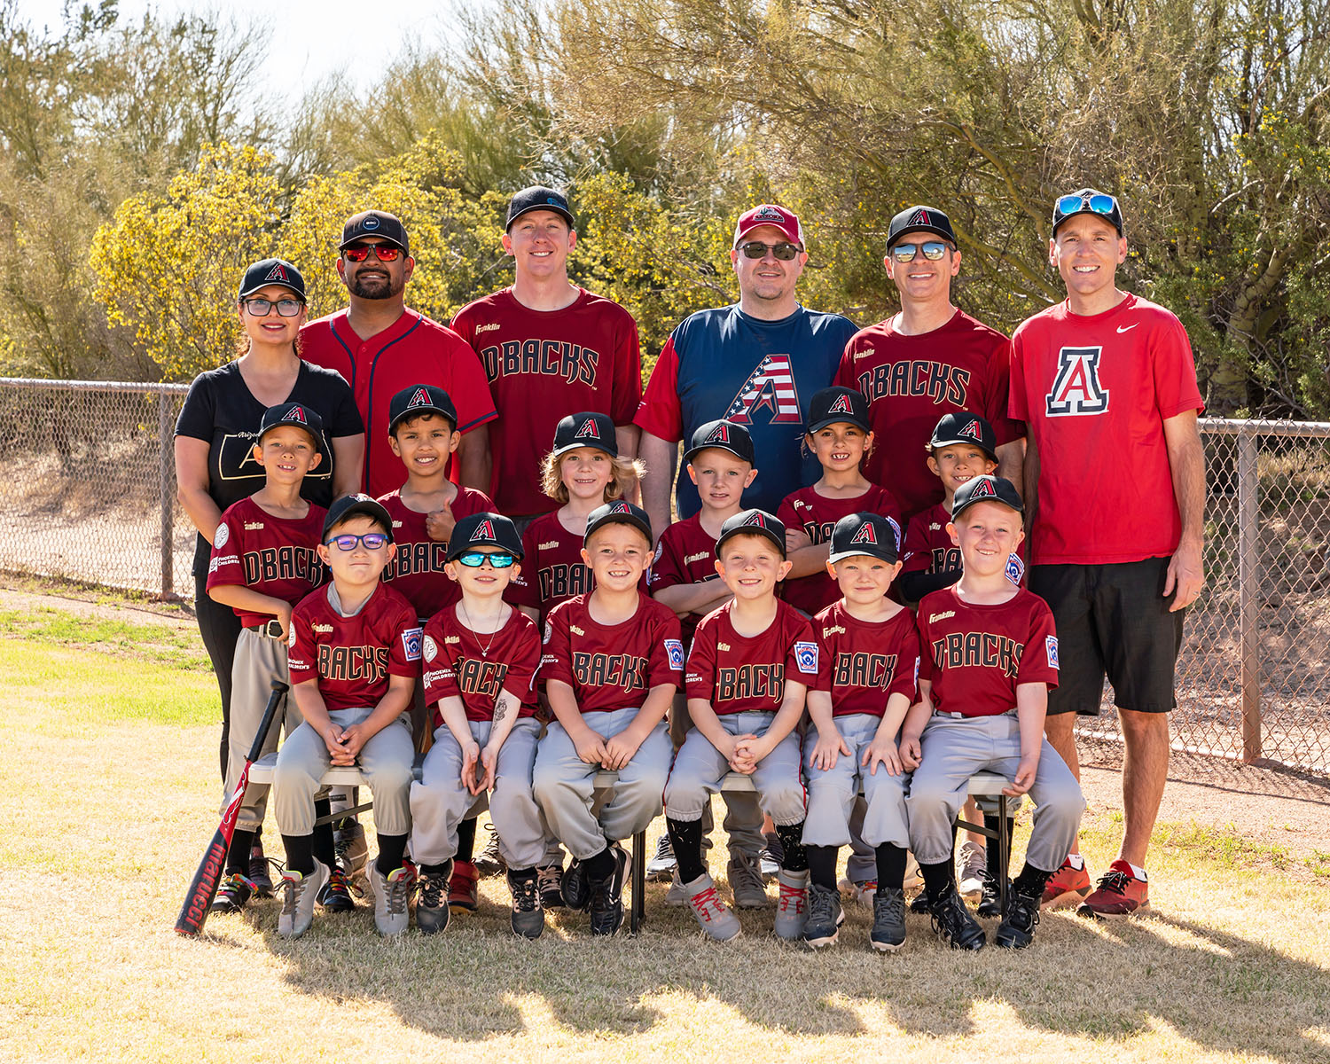
[[[976,771],[1029,794],[1035,827],[1025,867],[1007,890],[995,943],[1019,950],[1039,922],[1048,878],[1076,839],[1085,799],[1044,738],[1048,689],[1057,686],[1057,636],[1043,598],[1007,579],[1021,540],[1021,501],[1009,480],[976,476],[955,496],[951,529],[964,572],[919,604],[919,694],[900,738],[910,783],[910,843],[934,927],[954,948],[980,950],[983,928],[956,892],[952,823]]]

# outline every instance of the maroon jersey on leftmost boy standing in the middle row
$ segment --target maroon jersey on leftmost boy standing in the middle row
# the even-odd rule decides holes
[[[239,584],[295,605],[323,583],[318,545],[326,516],[327,511],[313,503],[299,520],[274,517],[253,499],[227,507],[213,537],[207,591]],[[273,617],[239,606],[233,609],[246,628]]]

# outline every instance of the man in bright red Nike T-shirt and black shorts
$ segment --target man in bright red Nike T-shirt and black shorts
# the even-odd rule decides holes
[[[1068,665],[1045,726],[1079,773],[1076,714],[1099,713],[1107,673],[1127,829],[1093,894],[1073,847],[1043,902],[1084,898],[1085,915],[1128,916],[1149,904],[1142,866],[1168,775],[1182,616],[1205,580],[1204,404],[1182,323],[1116,285],[1127,259],[1117,200],[1060,197],[1048,255],[1067,299],[1016,330],[1011,367],[1011,416],[1029,426],[1029,589],[1052,608]]]

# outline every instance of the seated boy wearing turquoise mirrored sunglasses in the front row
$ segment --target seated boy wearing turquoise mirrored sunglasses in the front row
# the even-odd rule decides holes
[[[420,866],[416,926],[448,926],[446,891],[458,850],[458,826],[489,794],[489,818],[508,866],[512,930],[535,939],[545,930],[536,866],[545,826],[531,793],[540,722],[535,622],[504,600],[521,560],[511,520],[472,513],[448,540],[447,572],[462,596],[424,630],[424,694],[434,710],[434,745],[411,789],[411,857]]]

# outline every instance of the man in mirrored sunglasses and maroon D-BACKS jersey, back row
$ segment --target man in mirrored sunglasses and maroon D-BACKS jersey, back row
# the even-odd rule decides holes
[[[942,484],[918,458],[944,414],[968,410],[998,434],[998,472],[1020,488],[1021,427],[1007,418],[1007,338],[951,302],[960,251],[936,207],[906,207],[887,229],[887,277],[900,313],[846,344],[835,383],[868,400],[878,446],[863,473],[887,488],[908,521],[942,501]],[[904,460],[902,460],[904,455]]]

